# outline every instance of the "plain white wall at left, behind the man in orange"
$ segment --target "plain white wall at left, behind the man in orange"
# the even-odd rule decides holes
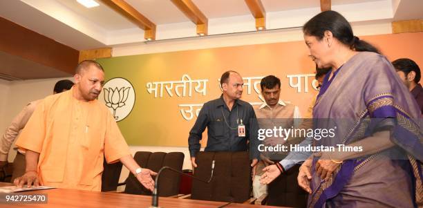
[[[7,82],[0,80],[0,136],[12,122],[13,118],[24,106],[33,100],[39,100],[47,95],[53,94],[53,88],[60,79],[71,79],[73,77],[54,79],[30,79],[24,81]],[[13,145],[12,145],[13,147]],[[16,151],[9,151],[9,162],[15,159]]]

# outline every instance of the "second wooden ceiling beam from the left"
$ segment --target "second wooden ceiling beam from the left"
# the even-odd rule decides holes
[[[184,13],[197,26],[198,35],[208,34],[209,19],[191,0],[171,0],[172,3]]]

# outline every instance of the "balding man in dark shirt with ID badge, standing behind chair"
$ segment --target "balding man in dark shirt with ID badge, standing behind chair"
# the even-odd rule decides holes
[[[203,105],[196,123],[189,131],[189,153],[192,167],[197,167],[196,153],[200,151],[200,140],[207,127],[205,151],[247,151],[248,141],[256,144],[256,114],[251,104],[240,100],[243,94],[243,78],[236,71],[229,70],[220,78],[223,94],[216,100]],[[250,153],[259,158],[258,153]],[[252,167],[257,160],[254,159]]]

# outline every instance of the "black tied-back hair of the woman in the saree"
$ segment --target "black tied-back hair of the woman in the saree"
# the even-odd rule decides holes
[[[323,39],[326,30],[332,32],[333,37],[342,44],[350,46],[355,51],[380,53],[375,46],[354,36],[350,23],[338,12],[332,10],[321,12],[303,26],[304,34],[317,37],[319,40]]]

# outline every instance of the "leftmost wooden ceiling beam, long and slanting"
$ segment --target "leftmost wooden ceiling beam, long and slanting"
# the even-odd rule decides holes
[[[102,2],[142,28],[145,39],[148,41],[156,39],[156,24],[144,17],[129,3],[124,0],[102,0]]]

